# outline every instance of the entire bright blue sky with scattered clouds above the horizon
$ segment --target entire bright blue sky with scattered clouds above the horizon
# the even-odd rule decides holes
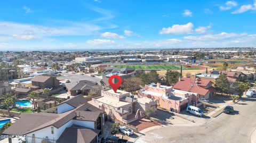
[[[255,47],[256,0],[0,2],[0,50]]]

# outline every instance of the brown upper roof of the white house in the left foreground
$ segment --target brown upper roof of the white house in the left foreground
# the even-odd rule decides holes
[[[78,98],[71,98],[73,100],[82,100],[80,96]],[[83,96],[82,96],[83,97]],[[16,134],[23,135],[30,132],[34,132],[50,125],[55,128],[62,127],[63,124],[70,120],[85,120],[85,121],[95,121],[96,116],[99,116],[103,111],[99,110],[97,107],[86,103],[76,104],[79,102],[71,102],[73,105],[77,105],[74,110],[67,111],[61,114],[54,113],[34,113],[34,114],[21,114],[20,119],[15,122],[11,127],[4,131],[5,134]],[[81,111],[82,115],[77,119],[77,111]],[[91,119],[90,119],[91,118]]]

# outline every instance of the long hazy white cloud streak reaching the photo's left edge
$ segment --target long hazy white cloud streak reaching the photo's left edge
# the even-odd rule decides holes
[[[52,23],[54,23],[54,21],[52,21]],[[33,33],[36,37],[87,36],[95,35],[95,33],[103,29],[95,24],[85,22],[58,21],[56,23],[58,26],[46,27],[35,24],[0,21],[0,35],[31,35],[28,33]]]

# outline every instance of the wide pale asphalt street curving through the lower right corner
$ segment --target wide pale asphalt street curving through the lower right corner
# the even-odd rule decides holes
[[[163,127],[147,132],[135,142],[250,142],[250,136],[256,129],[256,98],[243,98],[233,106],[233,114],[222,113],[207,124]]]

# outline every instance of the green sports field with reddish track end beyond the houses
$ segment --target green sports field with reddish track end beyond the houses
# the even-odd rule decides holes
[[[115,66],[116,68],[133,68],[136,70],[180,70],[180,65],[174,64],[146,64],[146,65],[111,65]],[[199,70],[199,66],[190,66],[189,65],[182,65],[182,70]]]

